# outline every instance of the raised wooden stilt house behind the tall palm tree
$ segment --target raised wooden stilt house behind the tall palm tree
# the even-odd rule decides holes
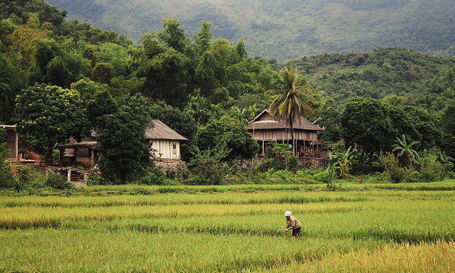
[[[260,149],[257,157],[265,157],[267,145],[274,143],[287,143],[298,157],[317,157],[319,145],[317,143],[317,131],[323,129],[311,124],[304,118],[295,120],[292,124],[294,129],[294,143],[292,143],[291,127],[289,122],[276,120],[270,115],[268,109],[262,111],[251,121],[247,127],[248,132],[257,140]]]

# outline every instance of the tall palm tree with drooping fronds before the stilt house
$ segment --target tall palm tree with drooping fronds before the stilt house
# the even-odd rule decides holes
[[[274,89],[267,90],[265,94],[277,94],[277,98],[270,103],[269,112],[275,119],[285,119],[291,127],[292,145],[294,145],[294,130],[292,123],[301,117],[306,117],[313,113],[313,108],[309,102],[315,103],[316,100],[311,96],[312,88],[309,85],[296,86],[302,82],[301,75],[297,68],[291,66],[291,62],[286,64],[286,68],[280,70],[278,79],[272,86]],[[294,149],[293,154],[294,154]]]

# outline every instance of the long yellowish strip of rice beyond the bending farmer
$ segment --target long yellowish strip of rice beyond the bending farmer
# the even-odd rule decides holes
[[[368,194],[342,192],[289,192],[268,191],[251,193],[223,194],[159,194],[138,196],[0,196],[2,207],[110,207],[110,206],[145,206],[145,205],[192,205],[192,204],[282,204],[282,203],[320,203],[320,202],[355,202],[367,201]]]

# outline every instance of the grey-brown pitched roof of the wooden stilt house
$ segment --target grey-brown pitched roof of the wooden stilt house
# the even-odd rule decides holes
[[[254,120],[251,122],[251,125],[249,125],[247,127],[247,129],[253,129],[253,124],[254,124],[254,129],[286,129],[286,128],[290,128],[289,126],[289,123],[288,122],[284,122],[284,121],[281,121],[281,120],[259,120],[259,121],[256,121],[260,116],[262,115],[270,115],[270,113],[268,112],[268,109],[262,111],[261,114],[259,114],[256,118],[254,118]],[[304,119],[304,118],[301,118],[300,119],[300,122],[299,120],[295,120],[293,123],[292,123],[292,127],[294,129],[302,129],[302,130],[313,130],[313,131],[323,131],[324,129],[322,129],[321,127],[317,126],[317,125],[313,125],[311,124],[307,119]]]

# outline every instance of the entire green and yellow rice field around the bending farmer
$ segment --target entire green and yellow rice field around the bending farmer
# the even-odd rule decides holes
[[[0,196],[0,271],[454,271],[455,182]],[[278,232],[284,211],[301,237]]]

